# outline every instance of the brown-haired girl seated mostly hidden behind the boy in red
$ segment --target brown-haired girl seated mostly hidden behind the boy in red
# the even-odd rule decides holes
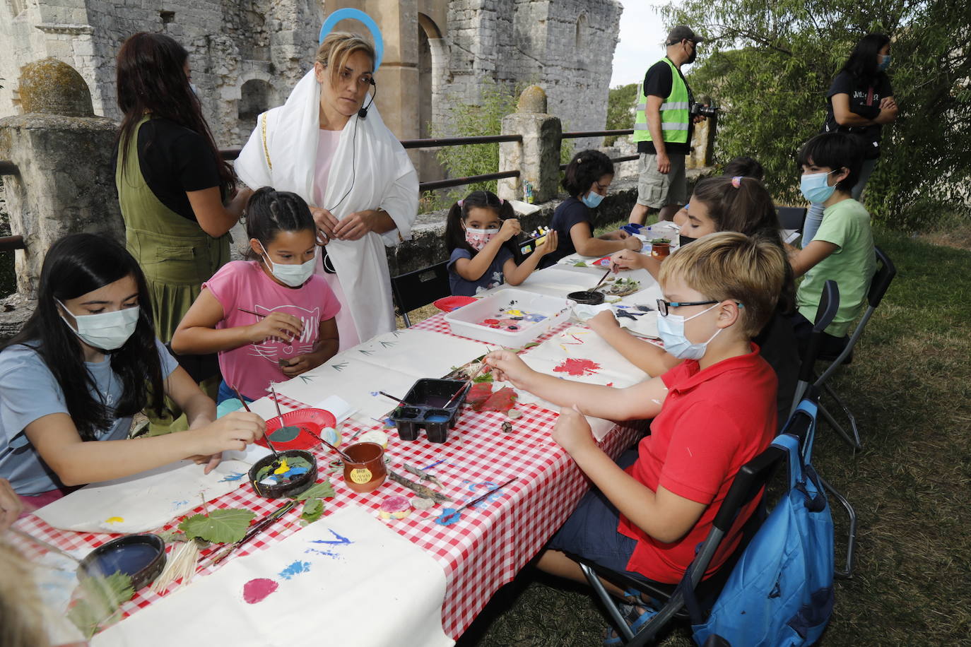
[[[695,186],[686,207],[687,220],[681,228],[681,246],[716,232],[738,232],[777,244],[785,251],[775,204],[769,192],[755,178],[721,176],[702,179]],[[611,257],[611,266],[615,272],[643,268],[657,277],[661,261],[625,250]],[[777,409],[778,421],[782,425],[788,417],[799,370],[798,344],[787,319],[795,308],[795,283],[791,267],[787,266],[786,280],[777,303],[772,318],[753,338],[753,342],[758,345],[759,354],[775,370],[779,380]],[[620,328],[610,311],[598,313],[587,325],[628,361],[651,375],[665,372],[681,361]]]

